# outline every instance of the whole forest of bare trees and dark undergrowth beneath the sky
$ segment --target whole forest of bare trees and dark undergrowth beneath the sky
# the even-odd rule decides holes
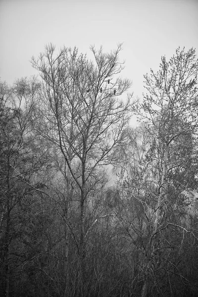
[[[2,297],[198,296],[196,51],[136,99],[121,49],[49,44],[0,80]]]

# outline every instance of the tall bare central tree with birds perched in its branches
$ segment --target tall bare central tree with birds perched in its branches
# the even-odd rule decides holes
[[[115,161],[114,151],[122,141],[133,106],[132,95],[127,96],[126,102],[119,100],[131,87],[130,80],[118,77],[123,69],[119,62],[120,50],[121,45],[110,53],[91,47],[94,55],[91,61],[86,55],[78,54],[76,48],[64,47],[55,55],[55,47],[50,44],[38,59],[32,58],[43,83],[35,129],[50,140],[63,157],[66,201],[71,197],[73,182],[79,191],[80,234],[76,245],[80,296],[84,296],[85,290],[87,198],[100,182],[101,166]],[[67,216],[65,222],[67,224]]]

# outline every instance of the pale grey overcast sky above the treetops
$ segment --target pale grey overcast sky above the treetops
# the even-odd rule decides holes
[[[1,80],[36,74],[29,60],[49,42],[83,53],[123,42],[122,76],[141,98],[143,74],[158,69],[161,55],[179,46],[198,53],[198,0],[0,0]]]

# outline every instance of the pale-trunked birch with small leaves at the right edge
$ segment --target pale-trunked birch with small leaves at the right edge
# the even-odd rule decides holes
[[[159,271],[162,251],[172,250],[170,242],[165,244],[165,233],[168,234],[170,229],[174,230],[181,244],[179,234],[190,232],[190,229],[186,229],[184,219],[175,219],[174,212],[181,206],[179,201],[182,199],[183,206],[186,205],[183,209],[188,211],[184,200],[193,197],[193,191],[197,188],[197,76],[198,59],[195,50],[185,52],[185,49],[176,49],[169,61],[165,56],[161,58],[157,73],[151,69],[150,76],[144,76],[147,93],[143,103],[137,104],[135,108],[139,119],[145,122],[149,135],[149,147],[147,146],[144,153],[147,178],[144,175],[142,180],[142,198],[134,196],[143,205],[145,219],[149,222],[147,228],[142,230],[148,238],[141,268],[144,276],[142,297],[148,296],[154,288],[150,286],[151,279],[154,284],[157,283],[154,271]],[[140,162],[138,163],[140,166]],[[179,174],[173,178],[174,172]],[[146,180],[152,181],[154,187],[146,185]],[[130,186],[129,181],[127,185],[130,195],[130,187],[133,189],[133,185]],[[194,236],[197,237],[197,234]],[[174,275],[173,271],[171,268],[170,274]],[[185,282],[188,283],[187,280]],[[155,289],[160,290],[160,286]]]

